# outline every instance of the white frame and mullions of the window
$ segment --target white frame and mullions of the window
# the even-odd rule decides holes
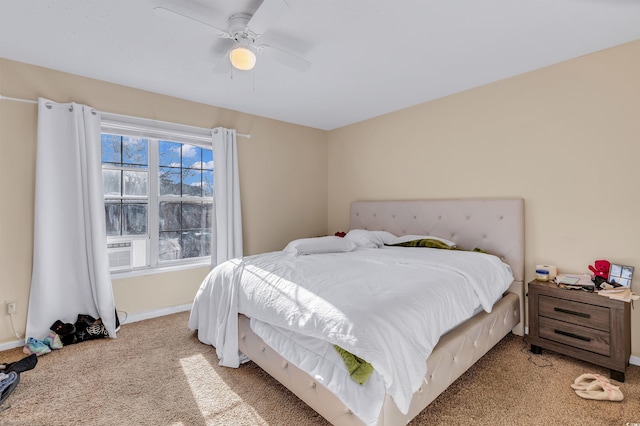
[[[202,256],[188,259],[159,260],[159,203],[160,201],[203,201],[214,202],[213,197],[189,196],[160,196],[158,189],[158,140],[179,142],[212,149],[211,129],[186,126],[164,121],[150,120],[138,117],[124,116],[111,113],[101,114],[101,133],[110,133],[123,136],[141,137],[149,139],[148,144],[148,224],[146,236],[118,236],[108,237],[109,243],[124,240],[147,240],[148,265],[131,269],[112,271],[112,278],[128,278],[138,275],[149,275],[160,272],[189,269],[194,267],[210,266],[211,256]],[[155,142],[152,142],[155,140]],[[215,160],[214,160],[215,161]],[[197,198],[197,200],[196,200]],[[154,212],[154,214],[152,214]],[[214,234],[215,235],[215,234]],[[212,237],[213,238],[213,237]]]

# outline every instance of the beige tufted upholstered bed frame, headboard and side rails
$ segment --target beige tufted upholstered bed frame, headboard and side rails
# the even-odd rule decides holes
[[[413,395],[406,415],[387,395],[378,425],[403,425],[510,331],[523,334],[524,200],[360,201],[351,205],[350,229],[383,230],[395,235],[432,235],[452,240],[464,249],[478,247],[501,256],[511,266],[515,278],[490,314],[483,311],[442,336],[427,359],[427,374]],[[240,315],[238,326],[242,353],[307,405],[334,425],[363,424],[333,393],[289,364],[256,336],[247,317]]]

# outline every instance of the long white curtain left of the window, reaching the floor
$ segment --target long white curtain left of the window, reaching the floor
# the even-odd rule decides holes
[[[27,337],[43,339],[78,314],[101,318],[116,336],[103,191],[99,113],[39,99]]]

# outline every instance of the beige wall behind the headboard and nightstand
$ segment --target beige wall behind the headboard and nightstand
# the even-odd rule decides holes
[[[638,76],[640,41],[332,131],[329,230],[353,200],[521,196],[527,277],[604,258],[640,293]]]

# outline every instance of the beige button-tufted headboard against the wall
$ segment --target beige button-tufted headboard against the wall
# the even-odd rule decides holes
[[[356,201],[350,229],[432,235],[467,250],[500,256],[514,278],[524,281],[524,200],[522,198]]]

